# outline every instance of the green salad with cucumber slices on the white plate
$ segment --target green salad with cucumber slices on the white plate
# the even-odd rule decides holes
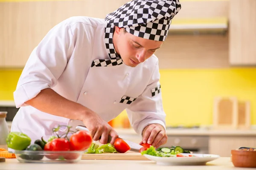
[[[190,153],[189,150],[184,150],[180,146],[172,146],[171,148],[168,147],[161,147],[156,149],[155,147],[151,146],[147,150],[141,152],[142,155],[152,155],[152,156],[160,156],[160,157],[177,157],[182,156],[180,153]],[[185,157],[185,156],[182,156]]]

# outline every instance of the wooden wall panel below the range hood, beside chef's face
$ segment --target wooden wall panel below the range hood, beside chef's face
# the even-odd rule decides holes
[[[229,67],[224,35],[168,35],[155,54],[162,69]]]

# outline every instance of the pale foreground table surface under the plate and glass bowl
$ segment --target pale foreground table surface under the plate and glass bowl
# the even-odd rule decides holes
[[[131,170],[142,169],[156,170],[157,168],[172,170],[232,170],[237,169],[233,166],[229,157],[221,157],[214,161],[210,161],[207,165],[201,166],[172,166],[172,165],[157,165],[154,161],[128,161],[128,160],[80,160],[73,164],[32,164],[20,163],[17,159],[6,159],[6,162],[0,163],[1,170],[79,170],[79,169],[99,169],[99,170]]]

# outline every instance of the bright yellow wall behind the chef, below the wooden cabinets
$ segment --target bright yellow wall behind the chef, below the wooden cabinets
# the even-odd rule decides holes
[[[21,70],[0,70],[0,100],[13,100]],[[236,96],[251,102],[256,125],[256,68],[160,70],[167,125],[210,125],[215,96]],[[126,117],[122,112],[115,120]]]

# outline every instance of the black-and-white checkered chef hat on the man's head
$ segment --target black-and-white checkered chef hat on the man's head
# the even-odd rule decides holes
[[[179,0],[132,0],[107,14],[105,21],[137,37],[164,41],[180,8]]]

